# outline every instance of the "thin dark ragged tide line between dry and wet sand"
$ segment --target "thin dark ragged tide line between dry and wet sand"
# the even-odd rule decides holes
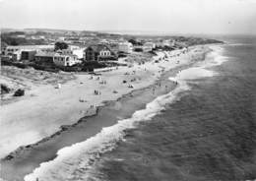
[[[204,54],[207,54],[207,53],[209,53],[209,51],[204,52]],[[205,56],[204,56],[204,58],[205,58]],[[150,86],[148,86],[148,87],[146,87],[146,88],[142,88],[142,89],[138,89],[138,90],[134,90],[134,91],[128,92],[128,93],[126,93],[126,94],[123,94],[121,97],[118,97],[116,100],[107,100],[107,101],[102,102],[102,104],[99,105],[99,106],[96,108],[96,112],[93,113],[92,115],[83,117],[83,118],[79,119],[78,122],[76,122],[76,123],[74,123],[74,124],[72,124],[72,125],[63,125],[63,126],[60,127],[60,130],[59,130],[58,132],[54,133],[53,135],[51,135],[51,136],[49,136],[49,137],[46,137],[46,138],[40,140],[39,142],[37,142],[37,143],[35,143],[35,144],[28,145],[28,146],[24,146],[24,147],[22,147],[22,148],[20,148],[20,149],[18,149],[18,150],[16,150],[16,151],[13,151],[13,152],[12,152],[11,154],[9,154],[9,155],[12,155],[12,154],[13,154],[13,155],[15,155],[14,157],[12,157],[12,156],[11,156],[11,157],[10,157],[10,156],[8,157],[8,156],[7,156],[7,157],[5,157],[4,159],[2,159],[3,165],[4,165],[3,168],[5,167],[5,164],[6,164],[6,163],[9,164],[10,162],[16,162],[16,161],[18,161],[18,163],[19,163],[19,162],[20,162],[19,159],[23,159],[23,158],[24,158],[24,154],[25,154],[25,157],[26,157],[26,153],[28,153],[28,150],[29,150],[29,152],[30,152],[31,150],[36,150],[36,146],[43,145],[44,143],[47,143],[47,142],[52,142],[52,140],[54,140],[54,139],[56,140],[56,138],[58,138],[58,136],[62,135],[62,133],[68,132],[68,131],[71,130],[72,128],[79,126],[81,123],[86,123],[86,122],[87,122],[86,119],[90,119],[90,118],[96,117],[96,116],[98,115],[98,112],[100,112],[102,109],[104,109],[104,107],[107,107],[107,106],[109,106],[110,104],[114,104],[115,102],[121,101],[122,99],[129,99],[130,96],[134,96],[133,94],[136,94],[137,92],[143,92],[143,91],[149,90],[149,89],[151,89],[151,88],[153,88],[153,87],[156,87],[156,85],[158,85],[158,82],[162,81],[162,79],[164,78],[164,76],[166,76],[166,75],[168,75],[168,74],[172,74],[172,75],[173,75],[173,74],[177,73],[177,72],[180,71],[180,70],[183,70],[183,69],[185,69],[185,68],[187,68],[187,67],[190,67],[191,64],[194,64],[194,63],[196,63],[196,62],[198,62],[198,60],[194,60],[194,61],[192,61],[192,62],[190,62],[190,63],[188,63],[188,64],[185,64],[185,65],[180,65],[180,66],[174,67],[174,68],[172,68],[172,69],[170,69],[170,70],[168,70],[168,71],[162,73],[159,80],[156,80],[153,85],[150,85]],[[168,75],[168,77],[169,77],[169,76],[170,76],[170,75]],[[165,78],[165,79],[166,79],[166,78]],[[172,88],[172,89],[174,89],[174,88]],[[17,155],[18,155],[18,156],[17,156]],[[27,155],[28,155],[28,154],[27,154]],[[30,153],[29,153],[29,155],[30,155]],[[56,154],[54,155],[54,157],[55,157],[55,156],[56,156]],[[51,159],[54,158],[54,157],[52,157],[52,156],[50,156],[50,157],[51,157]],[[9,158],[11,158],[11,159],[9,160]],[[45,161],[45,160],[44,160],[44,161]],[[20,163],[19,163],[19,164],[20,164]],[[37,163],[37,164],[38,164],[38,163]],[[37,166],[33,166],[33,167],[37,167]]]

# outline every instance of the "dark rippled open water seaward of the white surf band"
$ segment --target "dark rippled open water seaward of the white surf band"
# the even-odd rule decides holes
[[[160,115],[128,131],[125,142],[101,156],[91,178],[255,179],[256,41],[246,40],[224,45],[219,58],[228,61],[219,59],[219,66],[207,68],[201,63],[195,68],[213,70],[214,77],[209,72],[201,72],[209,76],[200,79],[193,71],[181,74],[190,91],[167,104]]]

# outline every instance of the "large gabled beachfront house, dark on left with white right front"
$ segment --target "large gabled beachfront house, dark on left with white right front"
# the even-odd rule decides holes
[[[116,55],[108,46],[96,44],[85,49],[84,59],[86,61],[116,60]]]

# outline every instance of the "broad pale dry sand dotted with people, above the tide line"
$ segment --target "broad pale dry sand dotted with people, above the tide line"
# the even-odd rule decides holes
[[[165,60],[162,59],[165,53],[159,52],[152,61],[142,65],[119,67],[101,72],[100,76],[76,75],[76,80],[61,85],[60,89],[52,85],[32,89],[28,92],[32,96],[27,94],[19,101],[1,107],[1,120],[4,120],[1,127],[6,128],[0,135],[1,157],[51,136],[63,125],[72,125],[82,117],[95,114],[96,107],[104,105],[105,101],[116,100],[131,91],[153,85],[163,72],[201,60],[207,51],[209,48],[206,46],[195,46],[180,56],[165,52],[168,54]],[[127,83],[123,83],[124,80]],[[100,93],[96,94],[95,91]],[[23,149],[16,151],[18,154],[13,152],[12,157],[19,155],[19,151]]]

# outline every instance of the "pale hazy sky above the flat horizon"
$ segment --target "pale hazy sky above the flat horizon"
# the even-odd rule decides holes
[[[256,0],[0,0],[0,26],[256,34]]]

